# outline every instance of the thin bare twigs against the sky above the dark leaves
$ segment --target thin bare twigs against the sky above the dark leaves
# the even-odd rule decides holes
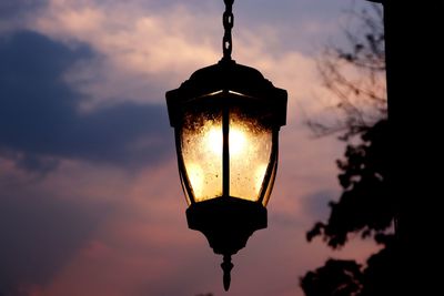
[[[337,118],[329,123],[307,122],[316,135],[341,133],[344,141],[387,116],[382,7],[351,10],[347,16],[355,29],[344,31],[346,49],[329,44],[317,60],[323,85],[336,99]]]

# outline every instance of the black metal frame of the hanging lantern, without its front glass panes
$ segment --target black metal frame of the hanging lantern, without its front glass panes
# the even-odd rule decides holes
[[[219,63],[195,71],[176,90],[167,92],[168,112],[175,131],[178,165],[183,191],[190,203],[186,210],[191,229],[202,232],[214,253],[222,254],[224,287],[230,286],[231,255],[246,244],[256,229],[266,227],[266,202],[276,170],[279,131],[286,123],[285,90],[273,86],[255,69],[222,59]],[[256,114],[272,130],[272,149],[260,197],[256,202],[230,196],[230,109]],[[181,130],[186,112],[195,109],[218,109],[222,112],[222,195],[196,202],[182,155]]]

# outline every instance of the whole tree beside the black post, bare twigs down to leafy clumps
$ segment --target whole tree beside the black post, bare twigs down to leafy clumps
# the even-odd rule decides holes
[[[355,14],[357,16],[357,14]],[[342,194],[330,202],[327,222],[317,222],[306,234],[311,242],[321,236],[333,249],[347,243],[350,234],[372,238],[382,248],[370,256],[365,266],[355,261],[329,259],[324,266],[306,273],[300,284],[306,296],[385,296],[396,295],[395,237],[391,234],[396,215],[395,198],[390,194],[389,122],[384,78],[384,33],[382,10],[359,13],[365,33],[346,31],[351,50],[327,48],[320,60],[325,86],[339,100],[343,118],[333,124],[309,122],[319,135],[341,132],[347,141],[344,159],[336,161]],[[343,65],[361,72],[353,81]],[[356,143],[357,142],[357,143]]]

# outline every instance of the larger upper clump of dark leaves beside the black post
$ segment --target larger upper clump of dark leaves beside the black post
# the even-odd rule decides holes
[[[321,235],[329,246],[337,248],[350,233],[363,237],[383,234],[392,224],[395,202],[387,188],[389,123],[381,120],[362,134],[362,143],[349,144],[345,160],[337,161],[343,193],[331,202],[327,223],[317,222],[306,237]]]

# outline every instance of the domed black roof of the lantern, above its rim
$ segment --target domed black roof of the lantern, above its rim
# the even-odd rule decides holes
[[[190,100],[219,91],[231,91],[273,101],[286,102],[287,98],[285,90],[273,86],[254,68],[225,59],[195,71],[179,89],[167,92],[167,98],[174,100],[173,98],[179,96],[182,100]]]

